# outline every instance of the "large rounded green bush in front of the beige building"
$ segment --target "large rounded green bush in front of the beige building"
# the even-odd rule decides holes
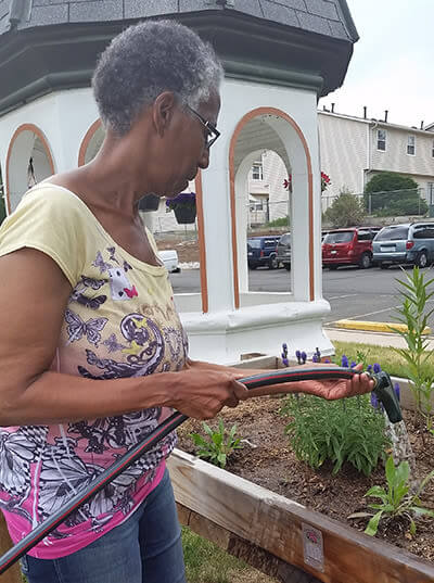
[[[382,172],[365,188],[365,208],[380,216],[424,215],[427,205],[420,199],[418,188],[418,183],[408,176]]]

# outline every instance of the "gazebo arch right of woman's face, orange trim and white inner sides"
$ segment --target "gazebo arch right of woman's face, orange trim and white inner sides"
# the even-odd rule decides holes
[[[276,107],[257,107],[246,113],[238,123],[229,147],[229,180],[230,180],[230,205],[231,205],[231,236],[233,254],[233,291],[234,305],[240,307],[240,279],[245,290],[246,280],[246,241],[240,229],[243,223],[243,189],[247,174],[259,150],[273,150],[277,152],[291,170],[293,176],[294,200],[305,193],[308,198],[308,245],[309,245],[309,299],[315,299],[315,269],[314,269],[314,188],[311,156],[306,138],[295,123],[285,112]],[[296,172],[294,173],[293,169]],[[294,213],[291,213],[294,215]],[[297,230],[296,225],[293,226]],[[297,242],[294,238],[295,249]],[[295,253],[294,253],[294,259]],[[242,273],[240,273],[242,265]],[[293,270],[294,271],[294,270]],[[293,286],[293,289],[295,287]]]

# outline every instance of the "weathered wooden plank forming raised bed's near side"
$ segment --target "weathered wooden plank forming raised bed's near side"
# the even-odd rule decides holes
[[[434,581],[434,566],[414,555],[184,452],[176,449],[168,467],[177,503],[194,512],[193,516],[199,515],[224,529],[218,531],[220,537],[228,531],[237,540],[263,549],[268,557],[271,555],[306,571],[323,583]],[[323,556],[319,545],[314,548],[318,568],[311,566],[312,549],[306,545],[306,529],[322,538]],[[204,527],[199,530],[204,532]]]

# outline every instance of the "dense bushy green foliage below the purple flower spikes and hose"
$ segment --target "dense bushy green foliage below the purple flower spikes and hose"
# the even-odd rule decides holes
[[[292,417],[285,431],[295,455],[311,468],[330,459],[335,474],[349,461],[369,476],[388,444],[384,417],[367,395],[342,401],[290,395],[281,413]]]

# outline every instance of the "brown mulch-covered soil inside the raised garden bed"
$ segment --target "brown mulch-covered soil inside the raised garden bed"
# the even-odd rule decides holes
[[[238,426],[238,435],[243,436],[243,449],[235,451],[228,459],[226,469],[267,487],[306,507],[322,512],[330,518],[340,520],[358,531],[363,531],[368,519],[348,519],[354,512],[371,511],[367,507],[363,494],[373,485],[385,485],[384,467],[382,465],[369,477],[359,473],[349,464],[332,476],[332,465],[326,464],[318,470],[299,461],[291,451],[284,434],[289,418],[279,414],[282,398],[258,397],[240,403],[235,409],[225,408],[220,417],[225,426]],[[425,432],[425,446],[421,431],[414,427],[416,417],[412,411],[404,411],[410,442],[417,457],[418,478],[423,479],[434,468],[434,438]],[[208,422],[216,427],[217,421]],[[195,454],[194,445],[189,438],[191,432],[201,432],[202,423],[188,420],[179,430],[178,447]],[[423,506],[434,510],[434,480],[429,483],[421,496]],[[370,498],[376,503],[378,499]],[[408,522],[395,521],[381,525],[376,534],[387,543],[434,561],[434,519],[421,517],[417,520],[416,535],[411,535]]]

